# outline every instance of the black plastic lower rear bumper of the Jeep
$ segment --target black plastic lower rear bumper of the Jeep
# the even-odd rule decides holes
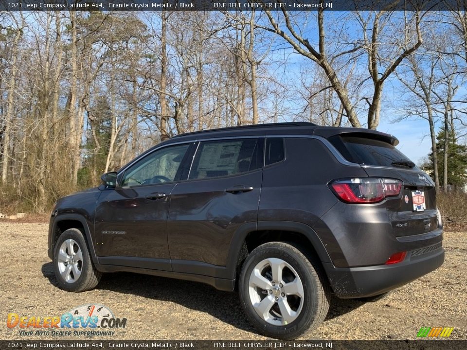
[[[444,262],[442,247],[423,255],[413,252],[403,262],[390,265],[335,267],[323,262],[323,266],[337,297],[373,297],[426,275]]]

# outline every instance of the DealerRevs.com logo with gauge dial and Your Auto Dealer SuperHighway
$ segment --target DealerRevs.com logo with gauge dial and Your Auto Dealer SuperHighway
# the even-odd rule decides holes
[[[18,329],[20,336],[102,336],[114,335],[115,329],[126,327],[126,318],[113,315],[107,306],[81,305],[63,315],[40,316],[8,313],[6,326]]]

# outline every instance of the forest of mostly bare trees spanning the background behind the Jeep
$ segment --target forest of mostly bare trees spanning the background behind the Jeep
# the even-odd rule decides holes
[[[462,186],[466,79],[466,11],[3,11],[0,208],[46,212],[173,135],[286,121],[424,120],[437,190]]]

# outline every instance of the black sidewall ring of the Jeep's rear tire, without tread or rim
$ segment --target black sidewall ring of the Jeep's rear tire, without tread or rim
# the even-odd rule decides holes
[[[275,326],[269,324],[256,314],[251,304],[249,293],[251,272],[256,264],[268,258],[279,258],[286,261],[295,269],[302,280],[304,289],[302,311],[300,315],[288,325]],[[313,322],[318,308],[316,291],[319,287],[320,286],[317,286],[316,281],[312,278],[311,271],[309,271],[308,266],[303,261],[303,257],[283,246],[265,245],[254,249],[245,261],[240,275],[239,293],[246,315],[258,330],[271,337],[291,339],[305,332]]]

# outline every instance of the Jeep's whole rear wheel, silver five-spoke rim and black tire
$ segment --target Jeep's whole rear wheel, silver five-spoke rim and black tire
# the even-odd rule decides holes
[[[318,327],[329,310],[329,286],[298,247],[270,242],[255,248],[239,281],[243,309],[264,335],[294,339]]]

